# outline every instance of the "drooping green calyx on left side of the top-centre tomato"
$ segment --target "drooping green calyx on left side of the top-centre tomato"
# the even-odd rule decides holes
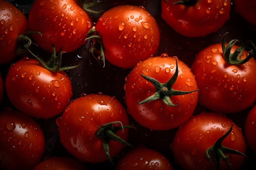
[[[101,64],[103,62],[103,67],[105,67],[105,54],[104,46],[101,37],[95,29],[95,26],[92,27],[87,33],[87,38],[85,40],[92,40],[92,45],[90,46],[90,54]],[[99,52],[99,54],[98,54]],[[95,55],[97,53],[97,57]],[[89,58],[90,60],[90,58]]]

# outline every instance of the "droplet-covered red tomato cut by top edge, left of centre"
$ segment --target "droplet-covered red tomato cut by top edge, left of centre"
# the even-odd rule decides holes
[[[28,26],[36,44],[52,52],[52,44],[59,51],[69,53],[85,44],[92,26],[87,13],[74,0],[35,0],[29,12]]]

